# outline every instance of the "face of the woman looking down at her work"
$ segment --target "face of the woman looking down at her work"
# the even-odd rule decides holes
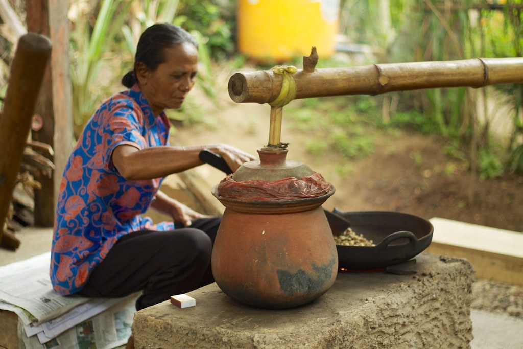
[[[155,71],[147,70],[142,62],[137,64],[140,88],[155,116],[165,109],[181,107],[198,72],[198,50],[193,44],[176,44],[164,54],[165,62]]]

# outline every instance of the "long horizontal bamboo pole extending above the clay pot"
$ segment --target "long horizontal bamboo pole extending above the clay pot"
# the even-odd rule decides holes
[[[292,75],[295,99],[340,95],[379,95],[439,87],[484,87],[523,83],[523,58],[473,58],[460,61],[372,64],[299,70]],[[281,75],[272,71],[235,73],[229,95],[236,103],[269,103],[280,93]]]

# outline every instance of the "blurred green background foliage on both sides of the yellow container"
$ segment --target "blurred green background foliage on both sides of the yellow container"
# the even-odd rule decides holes
[[[339,4],[340,34],[369,51],[335,54],[320,60],[318,68],[523,54],[523,0],[340,0]],[[215,103],[213,66],[236,69],[248,59],[235,48],[236,6],[234,0],[73,0],[69,17],[75,133],[101,100],[116,92],[121,76],[132,68],[141,32],[154,22],[180,25],[198,39],[198,86]],[[301,59],[289,63],[300,67]],[[255,69],[270,67],[267,63]],[[497,138],[493,121],[479,116],[480,109],[487,110],[481,99],[511,107],[510,139]],[[364,136],[371,123],[385,130],[402,127],[447,137],[452,153],[486,178],[497,176],[499,168],[523,174],[522,108],[519,84],[312,98],[293,102],[286,110],[297,129],[321,137],[309,146],[315,154],[365,156],[375,148],[370,136]],[[205,120],[201,103],[191,98],[168,115],[186,123]]]

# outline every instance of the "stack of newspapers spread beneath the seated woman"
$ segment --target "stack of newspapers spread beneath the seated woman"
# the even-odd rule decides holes
[[[115,348],[127,343],[139,296],[60,296],[49,279],[50,252],[0,266],[0,309],[18,314],[18,338],[32,348]]]

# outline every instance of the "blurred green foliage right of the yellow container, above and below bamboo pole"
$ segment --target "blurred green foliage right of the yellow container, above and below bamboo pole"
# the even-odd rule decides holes
[[[350,66],[354,62],[361,65],[521,57],[522,3],[523,0],[342,0],[340,34],[372,54],[349,52],[353,58],[350,62],[338,65],[337,55],[322,60],[317,67]],[[299,66],[300,62],[292,64]],[[385,130],[401,127],[439,133],[453,144],[452,152],[459,154],[460,161],[469,164],[482,178],[492,178],[503,171],[523,174],[522,97],[521,84],[355,96],[340,110],[327,102],[317,103],[313,112],[323,112],[326,120],[316,121],[316,129],[307,126],[314,118],[311,111],[301,110],[307,107],[306,103],[292,113],[297,123],[304,123],[297,128],[308,132],[331,130],[328,135],[323,131],[324,140],[311,141],[314,154],[338,151],[343,156],[365,156],[372,149],[370,142],[358,139],[358,128],[350,123],[361,122],[355,115],[366,115],[366,120],[373,120]],[[507,140],[499,138],[494,129],[494,116],[488,115],[487,103],[492,101],[511,106],[508,117],[513,119],[514,130],[506,146],[502,144]],[[346,125],[340,126],[340,120],[345,120]],[[350,131],[342,132],[340,128]]]

